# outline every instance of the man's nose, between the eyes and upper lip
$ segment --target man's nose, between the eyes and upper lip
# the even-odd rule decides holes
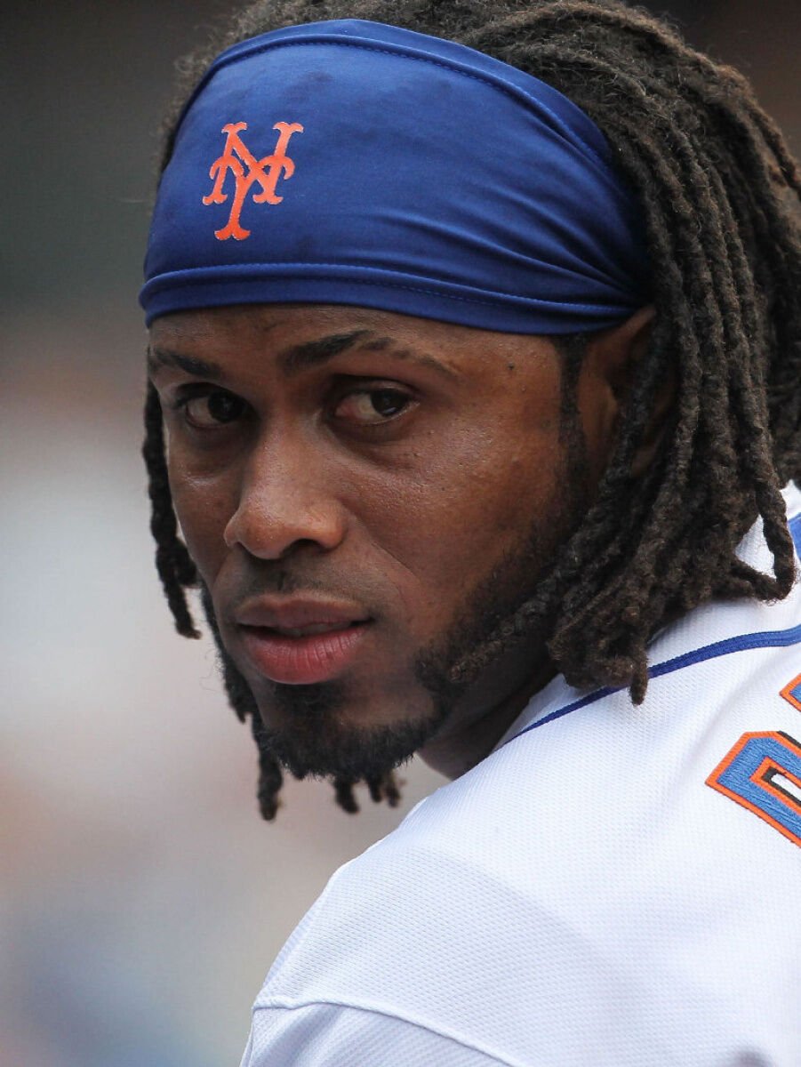
[[[345,507],[319,452],[297,439],[273,437],[249,457],[239,504],[223,536],[228,548],[241,545],[259,559],[281,559],[301,545],[331,552],[346,527]]]

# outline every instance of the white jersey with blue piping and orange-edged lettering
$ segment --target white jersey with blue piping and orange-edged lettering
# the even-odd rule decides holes
[[[800,646],[797,585],[662,631],[639,707],[555,679],[334,875],[242,1067],[798,1067]]]

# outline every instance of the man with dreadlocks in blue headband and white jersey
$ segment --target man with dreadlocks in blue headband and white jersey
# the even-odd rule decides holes
[[[243,1063],[797,1064],[781,136],[616,0],[267,3],[225,44],[142,293],[159,572],[266,817],[282,766],[348,810],[415,751],[452,779],[332,879]]]

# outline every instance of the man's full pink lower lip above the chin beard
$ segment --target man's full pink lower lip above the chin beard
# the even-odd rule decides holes
[[[342,674],[358,655],[370,619],[303,626],[239,625],[244,651],[259,674],[284,685],[311,685]]]

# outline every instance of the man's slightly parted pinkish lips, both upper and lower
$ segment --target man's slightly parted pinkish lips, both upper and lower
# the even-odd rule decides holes
[[[371,623],[352,604],[267,598],[243,605],[235,619],[253,667],[285,685],[339,676],[355,659]]]

